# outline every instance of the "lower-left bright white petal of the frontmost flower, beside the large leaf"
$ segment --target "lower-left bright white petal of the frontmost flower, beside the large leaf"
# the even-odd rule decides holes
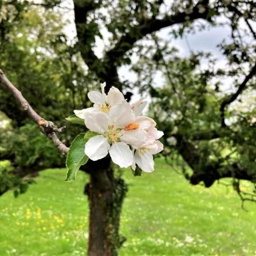
[[[108,144],[107,138],[104,138],[102,135],[90,138],[85,144],[85,154],[93,161],[104,158],[109,149],[110,144]]]

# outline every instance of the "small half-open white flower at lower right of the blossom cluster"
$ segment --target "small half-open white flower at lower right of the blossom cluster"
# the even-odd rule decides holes
[[[160,141],[155,141],[151,144],[144,144],[140,148],[133,149],[132,169],[135,170],[136,163],[144,172],[154,171],[153,155],[163,150],[163,144]]]

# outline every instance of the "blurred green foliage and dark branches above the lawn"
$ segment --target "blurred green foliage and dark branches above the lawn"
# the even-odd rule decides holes
[[[139,88],[140,93],[151,98],[149,112],[158,128],[165,132],[163,154],[166,157],[172,158],[182,151],[180,146],[186,144],[182,142],[189,142],[190,148],[183,152],[196,152],[196,156],[186,158],[187,162],[196,162],[195,172],[207,174],[208,167],[216,166],[219,166],[217,172],[222,172],[236,165],[254,177],[256,136],[252,119],[256,113],[253,104],[243,111],[235,107],[235,102],[227,105],[224,109],[227,127],[222,127],[219,109],[230,98],[223,81],[229,78],[233,81],[232,90],[237,90],[241,79],[255,64],[255,32],[250,25],[255,20],[255,5],[252,1],[246,4],[215,1],[207,6],[207,1],[167,1],[168,8],[163,8],[162,2],[76,0],[77,38],[73,40],[63,34],[68,24],[63,18],[65,11],[53,8],[60,1],[44,0],[43,7],[27,1],[8,4],[1,1],[0,66],[32,107],[58,126],[62,126],[65,116],[71,115],[74,109],[89,107],[87,93],[98,86],[98,81],[124,91]],[[199,13],[190,16],[197,10]],[[185,38],[190,48],[189,35],[224,26],[220,16],[225,16],[225,26],[229,26],[230,32],[218,44],[221,60],[227,63],[225,68],[219,68],[209,52],[190,49],[190,56],[182,58],[169,43]],[[202,22],[194,18],[202,18]],[[170,21],[180,23],[170,27],[168,37],[158,37],[157,30],[168,26]],[[93,49],[96,39],[102,39],[102,29],[109,32],[109,44],[103,49],[104,57],[98,58]],[[143,37],[147,43],[138,41]],[[138,80],[122,82],[118,77],[122,65],[128,65]],[[155,82],[155,74],[166,77],[164,86],[158,80]],[[251,88],[252,93],[238,98],[240,101],[248,102],[251,97],[255,102],[254,79],[242,91],[244,95]],[[17,109],[16,102],[5,91],[1,93],[0,110],[10,119],[4,135],[0,128],[1,159],[9,159],[13,166],[20,168],[62,165],[59,153],[54,153],[54,145],[46,143],[46,138],[32,127],[24,126],[28,122],[26,113]],[[75,116],[67,120],[84,125]],[[84,132],[84,127],[68,124],[60,139],[69,145],[74,134],[80,132]],[[176,145],[169,145],[168,137],[175,137]]]

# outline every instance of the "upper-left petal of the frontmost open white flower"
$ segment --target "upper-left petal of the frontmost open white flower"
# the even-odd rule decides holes
[[[85,126],[93,131],[103,134],[108,130],[109,119],[104,112],[88,111],[85,112]]]

